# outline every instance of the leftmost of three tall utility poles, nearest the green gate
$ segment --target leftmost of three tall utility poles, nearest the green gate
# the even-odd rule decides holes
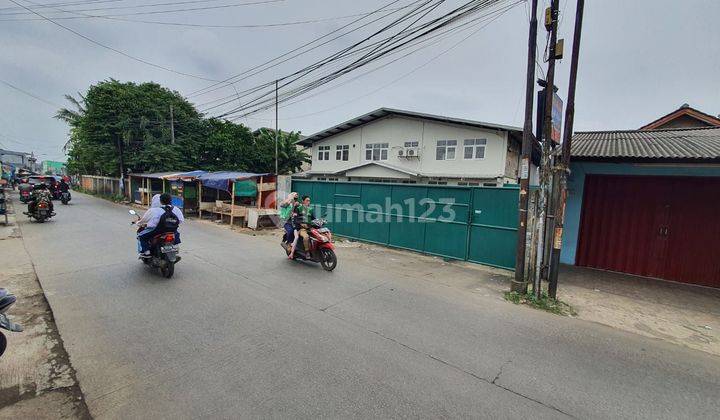
[[[518,208],[518,232],[515,253],[515,281],[511,291],[527,293],[525,280],[525,248],[527,244],[527,210],[530,196],[530,166],[532,158],[533,134],[533,104],[535,99],[535,52],[537,51],[537,3],[532,0],[530,6],[530,30],[528,35],[528,62],[525,80],[525,124],[523,125],[523,141],[520,157],[520,200]]]

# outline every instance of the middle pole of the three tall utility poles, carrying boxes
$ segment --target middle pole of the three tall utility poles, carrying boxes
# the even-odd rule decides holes
[[[540,164],[540,198],[538,199],[538,217],[535,238],[537,240],[537,253],[535,261],[535,279],[533,292],[540,297],[541,279],[544,277],[543,260],[545,245],[545,218],[547,217],[547,202],[550,190],[550,154],[552,153],[552,102],[555,94],[555,44],[557,43],[558,3],[552,0],[549,16],[545,15],[545,27],[550,31],[548,45],[548,70],[545,80],[545,118],[543,122],[542,162]]]

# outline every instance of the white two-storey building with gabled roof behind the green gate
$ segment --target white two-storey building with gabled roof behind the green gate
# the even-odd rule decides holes
[[[303,139],[315,180],[516,183],[522,129],[381,108]]]

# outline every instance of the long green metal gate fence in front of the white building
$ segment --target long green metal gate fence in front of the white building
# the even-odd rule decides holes
[[[341,236],[513,269],[517,187],[293,180]]]

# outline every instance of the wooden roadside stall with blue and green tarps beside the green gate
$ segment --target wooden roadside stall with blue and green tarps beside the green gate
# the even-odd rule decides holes
[[[276,177],[249,172],[208,172],[198,177],[199,215],[210,214],[230,225],[257,229],[263,219],[277,214]]]

